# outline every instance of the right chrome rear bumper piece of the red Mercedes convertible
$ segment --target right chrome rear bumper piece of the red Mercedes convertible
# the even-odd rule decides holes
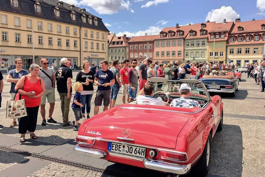
[[[181,174],[181,175],[187,174],[191,170],[190,163],[188,165],[179,165],[175,163],[154,160],[151,158],[144,159],[144,166],[147,169],[164,171],[164,172]]]

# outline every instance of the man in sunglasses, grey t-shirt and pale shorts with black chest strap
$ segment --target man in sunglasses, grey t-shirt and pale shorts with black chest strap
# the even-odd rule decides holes
[[[57,123],[52,118],[52,113],[54,111],[54,105],[55,105],[55,76],[54,71],[52,68],[48,67],[49,62],[46,58],[41,59],[41,66],[39,68],[39,74],[38,77],[40,77],[44,84],[45,84],[45,93],[41,96],[41,116],[42,116],[42,126],[46,126],[46,119],[45,119],[45,103],[46,98],[48,100],[48,103],[50,103],[50,109],[49,109],[49,116],[47,121],[49,123]]]

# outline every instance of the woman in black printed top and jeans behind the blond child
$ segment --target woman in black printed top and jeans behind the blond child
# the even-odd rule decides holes
[[[94,73],[89,70],[89,62],[84,61],[83,62],[83,70],[78,72],[76,76],[76,82],[80,82],[83,85],[83,91],[81,92],[81,97],[82,97],[82,105],[83,107],[81,108],[82,111],[82,120],[89,119],[90,116],[90,108],[91,108],[91,98],[94,93],[94,88],[93,88],[93,82],[95,75]],[[86,118],[85,118],[85,109],[86,109]]]

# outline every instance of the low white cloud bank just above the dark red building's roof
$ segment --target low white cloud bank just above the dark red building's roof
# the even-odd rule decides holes
[[[149,29],[146,29],[145,31],[137,31],[137,32],[124,31],[124,32],[117,33],[116,36],[123,36],[123,34],[126,34],[126,36],[128,36],[128,37],[144,36],[145,33],[147,33],[149,36],[149,35],[156,35],[156,34],[160,33],[161,30],[162,30],[162,28],[160,28],[160,27],[151,26],[151,27],[149,27]]]

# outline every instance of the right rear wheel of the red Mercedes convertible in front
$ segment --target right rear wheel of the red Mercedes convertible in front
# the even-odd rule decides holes
[[[201,176],[206,175],[210,169],[210,163],[211,163],[211,138],[210,138],[210,134],[209,134],[208,138],[207,138],[207,142],[206,142],[204,150],[203,150],[203,153],[202,153],[199,161],[194,166],[197,174],[200,174]]]

